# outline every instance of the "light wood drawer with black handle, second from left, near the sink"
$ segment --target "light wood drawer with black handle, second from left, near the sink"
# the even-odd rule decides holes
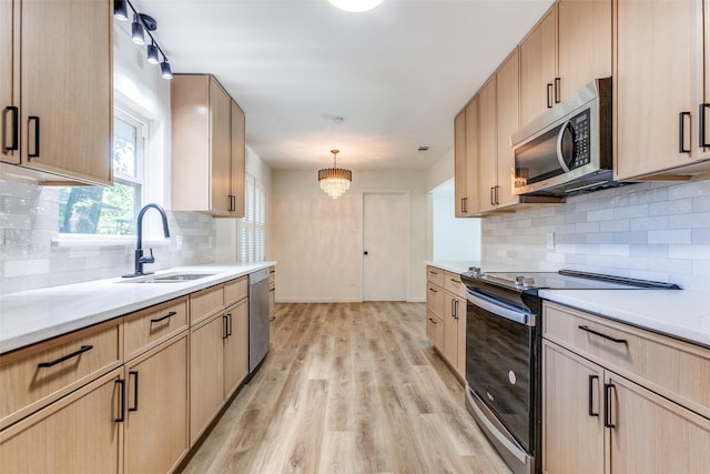
[[[125,360],[187,329],[187,297],[169,301],[123,317]]]

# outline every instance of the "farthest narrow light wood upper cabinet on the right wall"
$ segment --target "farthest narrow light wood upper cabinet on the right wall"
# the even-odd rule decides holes
[[[478,97],[454,119],[455,215],[468,218],[478,211]]]

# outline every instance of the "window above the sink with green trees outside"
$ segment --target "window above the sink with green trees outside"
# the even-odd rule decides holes
[[[59,232],[130,235],[143,191],[145,121],[113,117],[113,185],[59,189]]]

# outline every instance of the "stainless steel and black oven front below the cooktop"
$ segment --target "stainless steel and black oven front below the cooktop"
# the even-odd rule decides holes
[[[535,472],[536,315],[475,290],[466,314],[466,402],[506,463]]]

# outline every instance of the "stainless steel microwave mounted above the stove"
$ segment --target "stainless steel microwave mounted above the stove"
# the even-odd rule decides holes
[[[611,158],[611,78],[596,79],[510,138],[514,193],[566,196],[619,185]]]

